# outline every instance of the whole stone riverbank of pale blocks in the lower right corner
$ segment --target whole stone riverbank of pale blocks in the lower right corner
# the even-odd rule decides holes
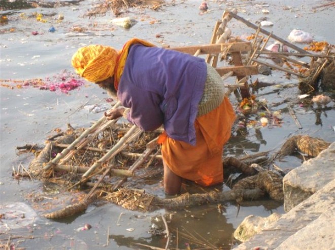
[[[285,211],[272,220],[247,217],[236,234],[252,235],[236,250],[334,249],[335,143],[284,177]],[[275,219],[273,219],[276,217]]]

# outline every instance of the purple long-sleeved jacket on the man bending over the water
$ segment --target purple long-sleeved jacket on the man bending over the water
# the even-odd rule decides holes
[[[162,124],[169,137],[195,145],[194,121],[207,78],[204,59],[157,47],[133,45],[119,82],[128,120],[144,131]]]

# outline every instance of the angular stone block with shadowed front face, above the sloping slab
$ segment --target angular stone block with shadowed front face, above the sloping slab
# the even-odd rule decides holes
[[[305,161],[283,179],[284,210],[290,211],[335,179],[335,143],[317,157]]]

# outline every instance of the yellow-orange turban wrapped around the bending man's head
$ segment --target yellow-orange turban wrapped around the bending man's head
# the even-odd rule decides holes
[[[117,51],[113,47],[89,45],[73,55],[72,66],[88,81],[103,81],[113,76],[116,57]]]

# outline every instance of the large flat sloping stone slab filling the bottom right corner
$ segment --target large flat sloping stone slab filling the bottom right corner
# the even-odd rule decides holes
[[[256,247],[270,250],[282,246],[285,246],[285,249],[334,249],[333,241],[329,238],[329,235],[333,235],[334,232],[334,207],[335,180],[295,206],[287,214],[282,215],[269,228],[263,229],[250,240],[235,247],[234,250],[250,250]],[[296,237],[295,240],[294,237]],[[302,246],[301,240],[305,239],[306,245]],[[313,247],[307,245],[307,239]],[[312,240],[315,242],[312,243]]]

